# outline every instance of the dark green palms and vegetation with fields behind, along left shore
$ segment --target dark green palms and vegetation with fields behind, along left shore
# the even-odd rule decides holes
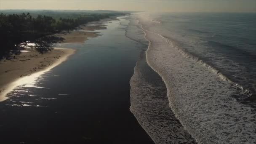
[[[40,13],[45,15],[40,15]],[[62,30],[71,30],[80,24],[96,21],[124,13],[83,12],[83,11],[35,11],[30,13],[0,14],[0,54],[6,53],[25,43],[56,43],[61,38],[50,35]]]

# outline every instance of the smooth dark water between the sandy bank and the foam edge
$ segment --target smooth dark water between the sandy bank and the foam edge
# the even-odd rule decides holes
[[[122,23],[127,20],[121,19]],[[33,85],[0,103],[1,144],[153,144],[130,107],[129,81],[144,45],[125,37],[120,21]]]

